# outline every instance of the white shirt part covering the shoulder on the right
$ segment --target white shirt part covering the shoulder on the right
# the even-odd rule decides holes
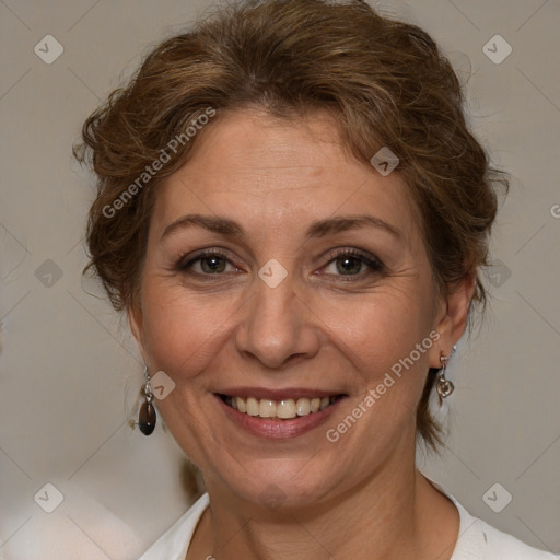
[[[512,535],[470,515],[456,500],[459,538],[451,560],[560,560],[560,556],[529,547]]]

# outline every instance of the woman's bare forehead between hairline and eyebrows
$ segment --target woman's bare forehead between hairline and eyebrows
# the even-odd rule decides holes
[[[156,230],[182,214],[228,215],[260,231],[370,213],[418,237],[409,188],[350,154],[332,117],[279,120],[256,110],[219,116],[189,161],[158,187]]]

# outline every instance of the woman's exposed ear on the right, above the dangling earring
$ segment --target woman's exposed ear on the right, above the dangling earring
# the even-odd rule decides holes
[[[475,287],[476,269],[471,269],[457,283],[450,287],[450,292],[446,295],[440,296],[434,327],[440,338],[431,348],[430,368],[440,369],[442,366],[441,357],[450,355],[453,347],[465,332]]]

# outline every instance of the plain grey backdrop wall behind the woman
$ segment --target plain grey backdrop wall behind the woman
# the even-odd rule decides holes
[[[142,363],[80,277],[92,179],[70,149],[142,54],[208,2],[0,0],[0,552],[137,558],[186,509],[182,453],[127,424]],[[467,80],[475,131],[513,176],[487,276],[494,299],[451,366],[452,433],[424,471],[471,513],[560,551],[560,2],[378,2],[433,34]],[[62,45],[47,65],[46,35]],[[483,52],[495,34],[513,48]],[[51,56],[54,44],[49,44]],[[503,45],[491,48],[500,55]],[[44,56],[47,56],[45,52]],[[57,491],[62,501],[57,505]],[[487,491],[495,483],[489,493]],[[494,513],[490,505],[501,509]],[[486,501],[483,499],[486,494]],[[36,497],[34,499],[34,497]],[[489,505],[490,504],[490,505]]]

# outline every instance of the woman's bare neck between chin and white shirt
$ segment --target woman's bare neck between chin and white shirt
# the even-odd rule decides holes
[[[189,550],[188,558],[447,560],[458,512],[413,460],[402,465],[384,468],[330,502],[291,510],[225,499],[210,487],[211,511],[191,546],[197,556]]]

